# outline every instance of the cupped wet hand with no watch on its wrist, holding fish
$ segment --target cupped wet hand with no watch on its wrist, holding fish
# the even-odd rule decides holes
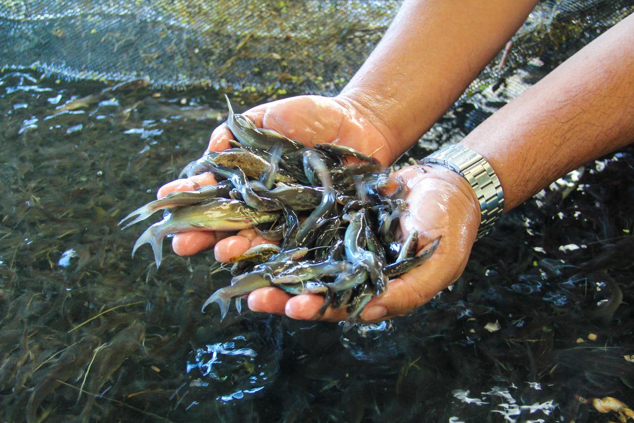
[[[259,105],[243,113],[256,126],[274,129],[289,138],[312,147],[315,144],[333,142],[353,147],[387,166],[396,157],[392,149],[389,128],[370,111],[351,98],[334,98],[306,95],[285,98]],[[213,131],[209,141],[210,151],[223,151],[231,147],[231,131],[222,124]],[[157,193],[163,198],[172,191],[192,191],[203,185],[216,184],[211,173],[178,179],[163,185]],[[233,234],[231,232],[183,232],[172,238],[172,248],[178,255],[192,255],[212,246],[220,262],[245,252],[252,246],[266,241],[253,229]]]

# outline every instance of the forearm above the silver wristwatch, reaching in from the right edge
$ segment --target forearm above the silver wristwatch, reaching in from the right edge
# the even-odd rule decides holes
[[[510,210],[634,141],[634,15],[489,117],[460,144],[496,171]]]

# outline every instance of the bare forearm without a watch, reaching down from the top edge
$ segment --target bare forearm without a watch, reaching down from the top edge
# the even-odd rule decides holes
[[[429,130],[526,20],[536,0],[406,0],[342,90],[398,155]]]

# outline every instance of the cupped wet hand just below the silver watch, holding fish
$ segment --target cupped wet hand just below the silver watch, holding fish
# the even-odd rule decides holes
[[[480,206],[470,185],[442,166],[408,166],[392,175],[406,184],[408,211],[401,217],[401,232],[418,231],[419,252],[442,237],[436,252],[422,265],[389,282],[387,291],[373,298],[361,313],[363,321],[402,316],[428,302],[451,285],[467,265],[480,224]],[[278,288],[261,288],[249,295],[253,311],[312,319],[323,304],[321,295],[291,297]],[[343,310],[328,309],[323,319],[346,318]]]

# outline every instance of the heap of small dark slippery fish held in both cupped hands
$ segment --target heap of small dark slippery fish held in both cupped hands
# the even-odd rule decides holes
[[[236,298],[240,312],[241,297],[276,286],[291,295],[323,294],[316,318],[328,306],[346,307],[346,332],[370,299],[387,290],[388,279],[427,260],[439,239],[418,255],[418,232],[407,234],[402,243],[395,239],[406,191],[375,159],[343,145],[306,147],[257,128],[249,117],[233,113],[226,100],[234,148],[207,151],[180,175],[211,172],[219,182],[171,192],[122,219],[119,224],[128,222],[126,229],[165,210],[163,220],[136,241],[133,255],[150,243],[158,267],[168,234],[254,228],[272,242],[233,258],[231,285],[214,292],[202,309],[216,302],[224,318],[231,299]],[[349,158],[358,161],[346,164]],[[384,194],[390,185],[396,189]],[[310,214],[301,222],[298,212]]]

